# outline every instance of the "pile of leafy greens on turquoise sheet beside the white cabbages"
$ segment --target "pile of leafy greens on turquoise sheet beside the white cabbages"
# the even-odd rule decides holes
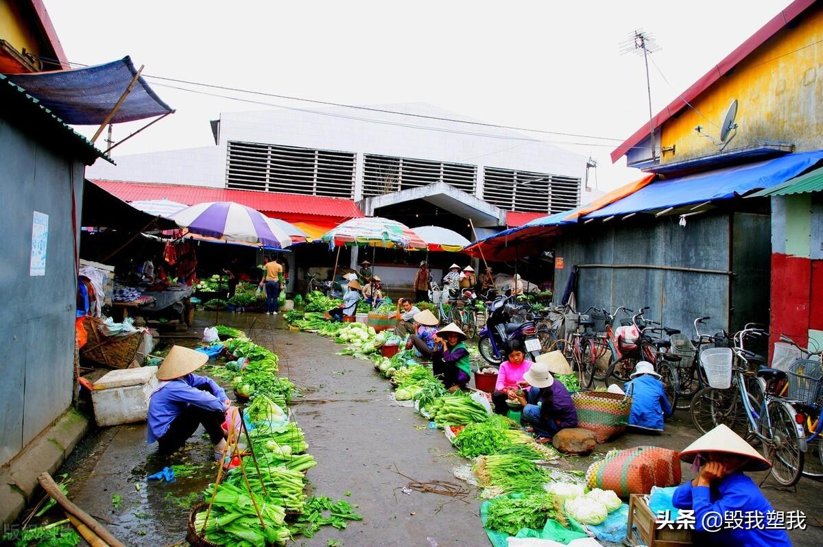
[[[546,520],[563,518],[554,496],[546,492],[494,498],[489,502],[488,515],[486,528],[509,535],[516,535],[522,528],[542,530]]]

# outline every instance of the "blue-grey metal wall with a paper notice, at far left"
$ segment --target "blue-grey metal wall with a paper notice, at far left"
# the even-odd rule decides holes
[[[71,174],[77,207],[83,165],[0,120],[0,464],[72,401],[74,267]],[[34,211],[49,216],[45,276],[29,276]]]

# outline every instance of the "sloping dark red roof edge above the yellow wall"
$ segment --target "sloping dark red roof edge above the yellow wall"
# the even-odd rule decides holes
[[[672,118],[672,116],[686,108],[686,101],[691,102],[695,100],[697,95],[703,93],[703,91],[707,90],[715,81],[718,81],[722,76],[730,72],[732,68],[737,66],[737,63],[740,63],[751,52],[763,45],[767,39],[777,34],[779,30],[782,30],[783,27],[788,25],[789,22],[802,12],[805,12],[807,8],[811,7],[814,3],[815,0],[795,0],[785,7],[782,12],[779,12],[754,35],[751,35],[749,39],[746,39],[745,42],[737,46],[737,49],[729,53],[720,63],[712,67],[709,72],[706,72],[700,80],[695,81],[689,89],[685,90],[677,99],[668,104],[666,108],[658,112],[653,118],[653,127],[660,127],[669,118]],[[632,146],[636,146],[646,137],[649,137],[648,122],[640,126],[621,146],[617,146],[617,148],[611,152],[612,163],[619,160],[622,155],[625,155],[631,150]]]

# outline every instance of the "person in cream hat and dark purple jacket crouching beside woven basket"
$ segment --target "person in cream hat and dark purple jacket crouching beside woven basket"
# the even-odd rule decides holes
[[[531,386],[528,392],[509,392],[509,399],[523,405],[523,421],[531,426],[538,443],[548,443],[560,429],[577,427],[577,410],[569,390],[562,382],[555,382],[549,368],[545,362],[532,364],[520,382]]]

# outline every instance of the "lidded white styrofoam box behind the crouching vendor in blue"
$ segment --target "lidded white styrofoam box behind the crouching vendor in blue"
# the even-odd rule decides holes
[[[149,396],[157,387],[157,367],[113,370],[94,383],[91,402],[97,425],[146,421]]]

